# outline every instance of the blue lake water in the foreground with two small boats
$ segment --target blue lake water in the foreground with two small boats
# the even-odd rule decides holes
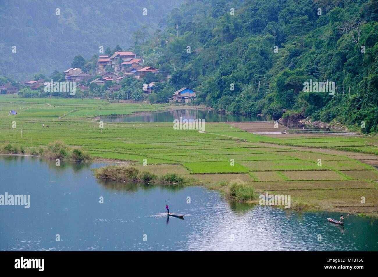
[[[339,213],[229,203],[197,186],[98,180],[90,169],[103,165],[0,155],[0,194],[30,194],[30,208],[0,205],[0,250],[378,250],[371,218],[352,215],[342,227],[326,220]],[[184,219],[168,219],[165,202]]]

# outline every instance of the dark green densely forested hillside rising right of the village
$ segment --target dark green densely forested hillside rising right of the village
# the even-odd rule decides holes
[[[217,110],[376,132],[377,21],[377,0],[191,0],[135,51]],[[310,79],[335,82],[335,94],[304,92]]]

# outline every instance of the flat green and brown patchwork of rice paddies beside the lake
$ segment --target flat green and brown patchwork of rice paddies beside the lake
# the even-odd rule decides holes
[[[60,140],[97,159],[131,161],[154,173],[175,172],[196,184],[241,179],[259,193],[290,194],[292,201],[318,210],[378,211],[376,136],[257,135],[222,122],[206,122],[204,133],[174,130],[173,122],[104,122],[100,129],[95,119],[168,107],[0,96],[0,144],[27,149]],[[10,110],[17,115],[9,115]],[[242,127],[254,130],[254,122]]]

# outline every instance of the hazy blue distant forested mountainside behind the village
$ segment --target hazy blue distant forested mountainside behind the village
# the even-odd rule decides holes
[[[75,55],[90,58],[99,54],[100,46],[105,51],[116,44],[126,49],[135,41],[142,43],[181,2],[2,0],[0,75],[23,81],[34,73],[66,70]]]

